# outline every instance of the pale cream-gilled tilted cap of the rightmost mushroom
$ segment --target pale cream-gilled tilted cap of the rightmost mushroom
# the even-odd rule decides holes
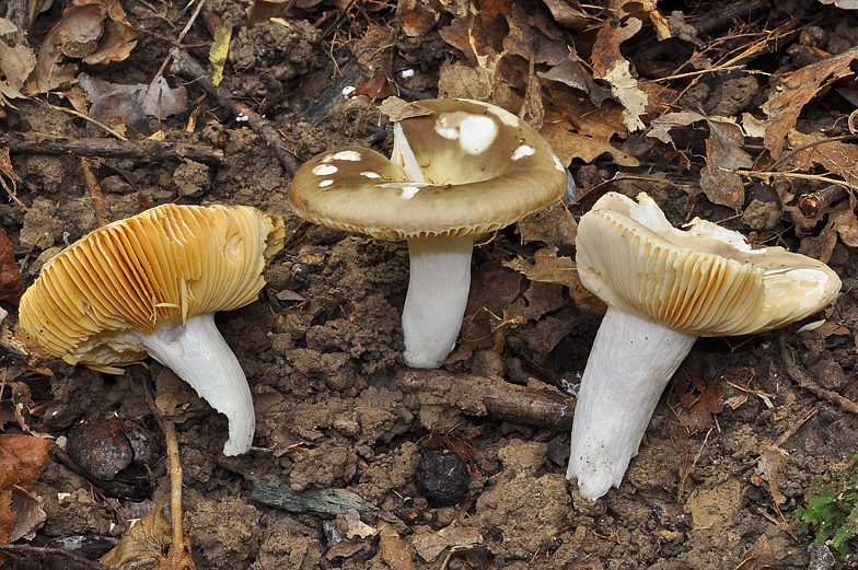
[[[673,228],[646,194],[608,193],[578,225],[581,282],[610,306],[693,336],[747,335],[809,316],[840,280],[825,264],[695,218]]]

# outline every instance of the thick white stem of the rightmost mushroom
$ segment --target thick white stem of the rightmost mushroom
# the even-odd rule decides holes
[[[608,307],[587,361],[566,478],[594,501],[619,487],[659,397],[696,336]]]

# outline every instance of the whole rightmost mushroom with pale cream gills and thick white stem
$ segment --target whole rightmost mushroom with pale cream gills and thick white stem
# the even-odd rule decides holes
[[[674,229],[646,194],[604,195],[578,225],[584,287],[607,303],[572,420],[566,477],[595,500],[619,487],[664,386],[699,336],[750,335],[839,292],[826,265],[695,218]]]

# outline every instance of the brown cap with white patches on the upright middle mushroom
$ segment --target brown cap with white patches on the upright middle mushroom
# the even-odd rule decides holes
[[[566,171],[530,125],[487,103],[429,100],[427,114],[397,124],[422,173],[360,147],[324,152],[295,174],[299,216],[380,239],[478,234],[559,199]],[[399,133],[397,133],[397,138]]]

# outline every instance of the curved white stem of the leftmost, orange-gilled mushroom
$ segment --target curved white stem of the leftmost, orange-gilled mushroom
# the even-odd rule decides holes
[[[246,453],[253,443],[256,416],[247,377],[215,325],[215,314],[167,323],[152,334],[136,333],[149,354],[190,384],[199,397],[230,422],[224,455]]]

